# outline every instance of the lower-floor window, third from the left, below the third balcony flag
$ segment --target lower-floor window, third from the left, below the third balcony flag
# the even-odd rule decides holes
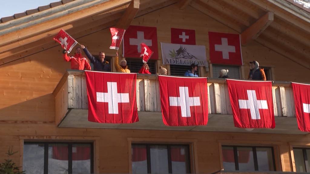
[[[222,146],[226,171],[275,171],[272,147]]]

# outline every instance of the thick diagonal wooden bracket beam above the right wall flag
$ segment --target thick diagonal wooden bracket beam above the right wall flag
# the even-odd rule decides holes
[[[272,21],[273,12],[269,11],[241,33],[241,45],[245,46],[252,39],[256,39],[272,23]]]

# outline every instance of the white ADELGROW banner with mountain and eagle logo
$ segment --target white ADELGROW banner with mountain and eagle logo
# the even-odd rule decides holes
[[[174,65],[191,65],[209,67],[204,45],[184,45],[160,43],[162,46],[162,63]]]

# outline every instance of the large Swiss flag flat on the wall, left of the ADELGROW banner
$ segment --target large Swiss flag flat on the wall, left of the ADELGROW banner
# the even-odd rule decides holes
[[[140,58],[141,43],[145,43],[154,54],[151,59],[158,59],[157,30],[156,27],[131,25],[127,28],[123,49],[125,57]]]

